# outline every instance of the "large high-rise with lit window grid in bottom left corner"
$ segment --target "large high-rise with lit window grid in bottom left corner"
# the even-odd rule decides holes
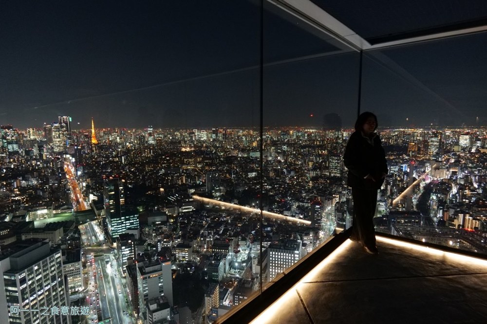
[[[0,256],[0,321],[2,323],[70,324],[70,315],[51,312],[69,307],[61,250],[42,239],[16,241]],[[37,309],[39,311],[22,311]],[[42,315],[40,310],[49,310]]]

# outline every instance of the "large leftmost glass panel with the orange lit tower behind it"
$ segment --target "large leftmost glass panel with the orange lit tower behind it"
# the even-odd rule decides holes
[[[90,319],[201,323],[261,287],[260,10],[1,3],[0,215],[81,223]]]

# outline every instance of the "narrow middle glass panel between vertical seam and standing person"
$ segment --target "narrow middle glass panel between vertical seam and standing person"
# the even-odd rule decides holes
[[[351,222],[342,154],[357,114],[359,71],[357,52],[266,9],[263,285]]]

